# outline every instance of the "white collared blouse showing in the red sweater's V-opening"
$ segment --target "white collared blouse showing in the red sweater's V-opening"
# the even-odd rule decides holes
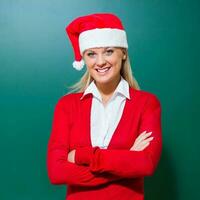
[[[93,94],[90,115],[92,146],[107,148],[122,116],[125,100],[126,98],[130,99],[129,84],[121,76],[121,80],[106,106],[102,103],[101,94],[94,81],[86,88],[83,96],[88,93]]]

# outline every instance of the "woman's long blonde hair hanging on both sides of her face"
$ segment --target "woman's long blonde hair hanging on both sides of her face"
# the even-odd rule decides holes
[[[122,61],[122,68],[121,68],[120,74],[128,82],[130,87],[136,90],[140,90],[139,84],[137,80],[135,79],[135,77],[133,76],[128,52],[126,49],[125,49],[125,52],[126,52],[126,59]],[[83,74],[80,80],[76,82],[75,84],[73,84],[72,86],[68,87],[70,89],[68,93],[84,92],[85,89],[89,86],[89,84],[93,80],[94,79],[90,76],[89,71],[86,69],[86,72]]]

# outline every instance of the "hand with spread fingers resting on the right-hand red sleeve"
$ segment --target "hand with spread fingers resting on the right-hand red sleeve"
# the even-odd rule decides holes
[[[142,132],[135,140],[133,146],[131,147],[131,151],[142,151],[144,150],[147,146],[149,146],[150,141],[153,140],[153,137],[150,137],[152,132]]]

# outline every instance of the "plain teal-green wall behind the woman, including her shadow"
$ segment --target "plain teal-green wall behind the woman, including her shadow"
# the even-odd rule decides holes
[[[56,200],[46,148],[54,106],[84,71],[71,66],[65,26],[114,12],[123,21],[132,69],[162,104],[163,153],[146,200],[200,199],[200,1],[0,0],[0,199]]]

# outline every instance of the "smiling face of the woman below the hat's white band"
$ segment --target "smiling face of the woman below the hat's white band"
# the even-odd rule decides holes
[[[116,47],[90,48],[83,53],[87,69],[98,84],[120,80],[122,60],[125,58],[125,51]]]

